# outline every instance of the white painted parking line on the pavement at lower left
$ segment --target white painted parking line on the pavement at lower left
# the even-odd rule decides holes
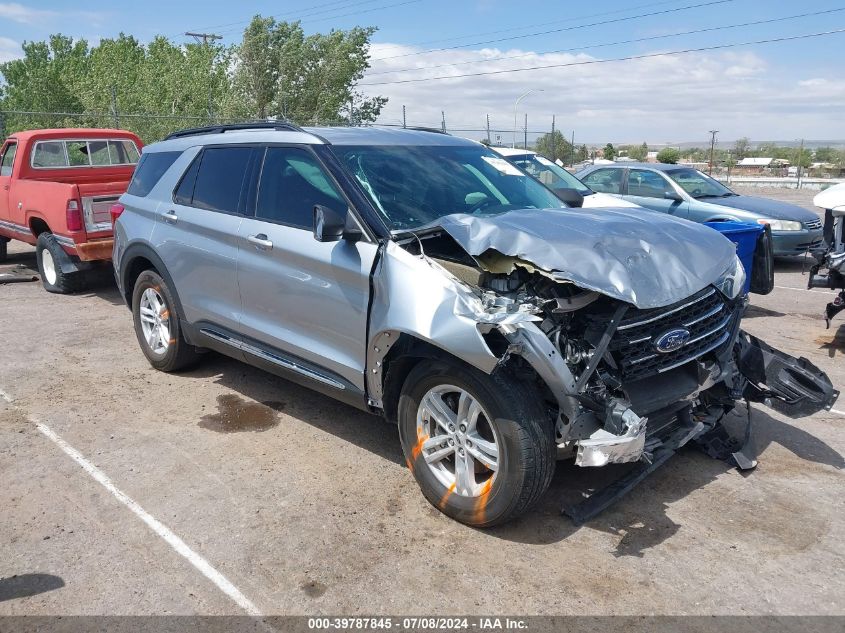
[[[0,391],[0,398],[5,400],[8,403],[12,403],[12,399],[9,395],[4,392]],[[30,417],[30,420],[32,418]],[[54,444],[56,444],[60,449],[62,449],[65,454],[67,454],[73,461],[79,464],[82,469],[91,475],[91,477],[99,483],[103,488],[108,490],[112,496],[120,501],[123,505],[129,508],[135,516],[141,519],[147,526],[156,534],[158,534],[165,542],[172,547],[177,554],[185,558],[191,565],[193,565],[199,572],[208,578],[211,582],[217,585],[217,588],[220,589],[223,593],[229,596],[241,609],[246,611],[249,615],[255,617],[262,617],[261,611],[258,610],[249,598],[247,598],[241,591],[233,585],[229,579],[227,579],[223,574],[219,571],[214,569],[211,564],[205,560],[202,556],[197,554],[194,550],[192,550],[188,545],[183,541],[181,538],[176,536],[170,528],[164,525],[161,521],[156,519],[152,516],[149,512],[144,510],[140,505],[138,505],[129,495],[121,491],[117,486],[115,486],[111,479],[101,471],[99,468],[94,466],[91,462],[89,462],[85,457],[82,456],[78,450],[76,450],[73,446],[68,444],[64,439],[62,439],[53,429],[49,426],[44,424],[43,422],[35,422],[35,427],[41,431],[44,436],[50,439]]]

